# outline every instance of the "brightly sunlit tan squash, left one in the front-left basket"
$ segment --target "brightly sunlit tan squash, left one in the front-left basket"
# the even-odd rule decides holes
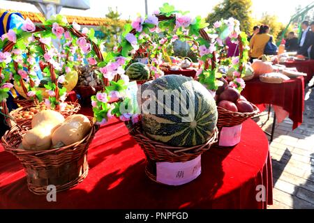
[[[22,137],[22,147],[30,151],[42,151],[51,147],[51,134],[54,128],[63,123],[59,112],[45,110],[38,112],[31,121],[31,130]]]

